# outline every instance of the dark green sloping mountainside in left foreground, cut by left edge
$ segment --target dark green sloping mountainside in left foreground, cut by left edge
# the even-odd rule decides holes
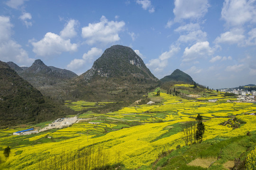
[[[0,61],[0,128],[37,123],[64,114],[62,106],[45,98],[7,63]]]

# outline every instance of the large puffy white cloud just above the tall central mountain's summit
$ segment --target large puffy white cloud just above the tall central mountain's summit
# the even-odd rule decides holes
[[[90,45],[96,42],[111,43],[120,40],[119,32],[124,28],[124,21],[108,21],[104,16],[101,21],[89,24],[82,28],[82,37],[86,38],[86,42]]]

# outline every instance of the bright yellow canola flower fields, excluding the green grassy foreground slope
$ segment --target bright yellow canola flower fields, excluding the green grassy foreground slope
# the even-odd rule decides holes
[[[188,85],[184,87],[190,88]],[[211,96],[188,100],[161,91],[158,96],[161,102],[125,107],[106,114],[91,113],[95,119],[63,129],[27,136],[11,135],[20,129],[0,130],[0,160],[3,162],[0,166],[3,170],[35,170],[40,169],[42,160],[51,162],[63,153],[101,147],[101,152],[108,155],[107,161],[101,165],[121,163],[125,170],[135,170],[152,164],[165,151],[184,146],[181,125],[197,114],[203,117],[206,126],[203,141],[244,136],[256,130],[256,116],[249,115],[256,113],[255,103],[226,102],[235,101],[235,98],[215,93],[219,100],[207,102],[205,100],[212,99]],[[149,96],[154,100],[155,92]],[[82,105],[95,107],[95,103],[84,101],[69,102],[68,107],[80,110]],[[11,153],[5,160],[2,151],[7,146]],[[255,151],[250,154],[255,154]]]

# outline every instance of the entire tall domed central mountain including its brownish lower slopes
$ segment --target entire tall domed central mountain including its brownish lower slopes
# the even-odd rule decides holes
[[[91,69],[69,84],[74,99],[136,101],[158,86],[160,81],[129,47],[114,45],[106,49]]]

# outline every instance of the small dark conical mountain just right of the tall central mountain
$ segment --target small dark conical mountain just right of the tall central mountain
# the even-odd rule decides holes
[[[175,69],[174,72],[169,75],[165,76],[164,78],[160,79],[162,82],[170,82],[170,81],[176,81],[176,82],[183,82],[187,84],[194,84],[192,77],[188,74],[184,73],[183,71],[179,69]]]

